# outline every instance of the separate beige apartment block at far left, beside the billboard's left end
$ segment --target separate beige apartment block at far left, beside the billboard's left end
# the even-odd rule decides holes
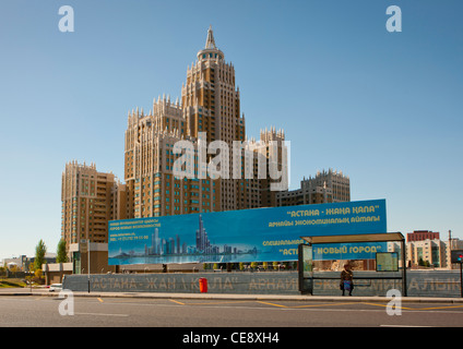
[[[126,184],[110,172],[97,171],[95,164],[73,160],[62,172],[61,205],[61,238],[69,263],[44,265],[47,282],[88,268],[92,274],[115,272],[108,266],[108,221],[127,218]]]

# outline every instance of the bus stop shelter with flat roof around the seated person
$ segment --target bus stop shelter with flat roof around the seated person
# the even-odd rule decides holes
[[[299,290],[302,293],[313,292],[313,280],[323,279],[314,277],[312,270],[312,250],[316,244],[342,244],[342,243],[364,243],[364,242],[399,242],[401,243],[402,276],[401,277],[378,277],[371,276],[368,279],[402,279],[402,296],[407,296],[406,290],[406,261],[405,261],[405,238],[401,232],[381,232],[381,233],[358,233],[358,234],[337,234],[337,236],[312,236],[300,237],[306,243],[299,244]],[[367,277],[363,277],[366,278]]]

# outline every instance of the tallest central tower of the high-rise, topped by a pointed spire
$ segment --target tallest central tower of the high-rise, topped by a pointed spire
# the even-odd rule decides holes
[[[188,68],[187,83],[181,88],[183,115],[190,135],[206,135],[206,142],[223,141],[232,148],[233,141],[245,141],[245,117],[240,115],[239,89],[235,85],[235,68],[225,61],[225,55],[215,46],[210,27],[204,49],[197,55],[197,62]],[[232,152],[228,154],[233,164]],[[238,209],[236,194],[242,180],[219,180],[222,210]]]

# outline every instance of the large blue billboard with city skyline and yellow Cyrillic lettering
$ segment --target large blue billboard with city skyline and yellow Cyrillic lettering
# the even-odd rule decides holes
[[[108,256],[109,265],[297,261],[300,237],[373,232],[387,232],[385,200],[111,220]],[[385,243],[319,246],[314,260],[371,251]]]

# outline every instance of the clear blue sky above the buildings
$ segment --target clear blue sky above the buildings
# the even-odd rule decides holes
[[[463,238],[462,16],[461,0],[1,1],[0,260],[56,252],[67,161],[123,179],[128,110],[180,96],[210,24],[248,135],[292,142],[292,188],[331,167],[353,201],[387,200],[389,231]]]

